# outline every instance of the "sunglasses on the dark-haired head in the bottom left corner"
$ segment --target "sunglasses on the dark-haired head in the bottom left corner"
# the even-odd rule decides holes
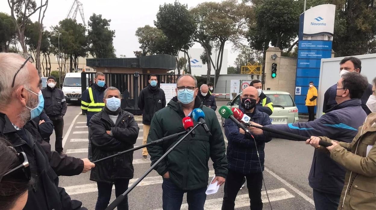
[[[17,154],[18,159],[20,160],[21,165],[15,167],[14,169],[6,172],[3,177],[0,177],[1,180],[7,175],[12,175],[13,178],[17,180],[27,180],[31,179],[31,172],[29,168],[29,162],[27,161],[26,154],[24,152]]]

